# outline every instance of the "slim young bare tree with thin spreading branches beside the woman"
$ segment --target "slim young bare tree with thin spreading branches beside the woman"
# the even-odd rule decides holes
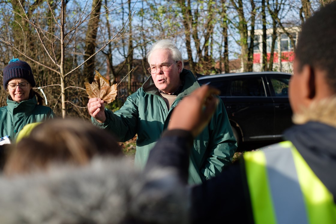
[[[37,5],[34,5],[34,10],[29,4],[23,0],[13,0],[15,2],[15,8],[12,5],[7,4],[8,9],[15,15],[16,20],[23,20],[24,23],[29,27],[30,30],[35,32],[34,42],[39,50],[42,50],[40,54],[29,54],[26,49],[27,46],[31,46],[30,40],[24,39],[23,47],[17,46],[17,43],[13,41],[13,36],[19,35],[17,30],[11,29],[11,24],[7,22],[7,38],[1,36],[0,43],[10,46],[11,49],[16,51],[19,55],[26,57],[28,60],[34,62],[38,66],[43,67],[45,70],[50,71],[58,76],[58,83],[53,84],[53,86],[58,86],[60,99],[60,108],[62,117],[66,117],[68,111],[73,107],[67,107],[67,103],[72,106],[76,106],[76,99],[73,95],[67,95],[71,89],[79,89],[83,91],[84,89],[82,82],[76,82],[74,78],[82,81],[79,76],[75,76],[76,72],[83,64],[92,59],[98,52],[108,46],[112,41],[120,39],[126,32],[125,27],[128,23],[125,23],[117,30],[113,36],[106,40],[103,44],[100,44],[98,48],[94,47],[94,51],[90,52],[90,55],[83,60],[79,60],[77,57],[81,52],[77,52],[77,34],[80,33],[84,27],[87,28],[88,23],[91,20],[95,20],[101,13],[96,11],[97,7],[92,6],[92,10],[88,11],[88,5],[83,7],[82,11],[72,11],[72,13],[66,12],[67,1],[38,1]],[[51,4],[53,3],[53,4]],[[98,2],[95,2],[98,4]],[[16,8],[18,7],[18,9]],[[108,9],[110,7],[107,7]],[[110,13],[113,9],[105,10],[103,13]],[[47,17],[46,15],[50,15]],[[69,16],[71,15],[71,16]],[[6,21],[10,21],[7,19]],[[19,23],[19,21],[16,21]],[[50,27],[50,24],[52,25]],[[91,27],[90,27],[91,29]],[[24,27],[20,28],[20,33],[25,33],[26,29]],[[13,33],[14,32],[14,33]],[[93,39],[91,39],[93,40]],[[93,42],[91,42],[93,43]],[[94,44],[94,43],[93,43]],[[38,47],[37,47],[38,45]],[[40,60],[40,55],[43,53],[45,60]],[[72,55],[72,56],[71,56]],[[75,84],[75,85],[72,85]],[[42,88],[50,87],[51,85],[44,86]],[[74,100],[69,100],[72,97]],[[77,98],[81,98],[80,95]],[[59,101],[55,102],[54,107]]]

